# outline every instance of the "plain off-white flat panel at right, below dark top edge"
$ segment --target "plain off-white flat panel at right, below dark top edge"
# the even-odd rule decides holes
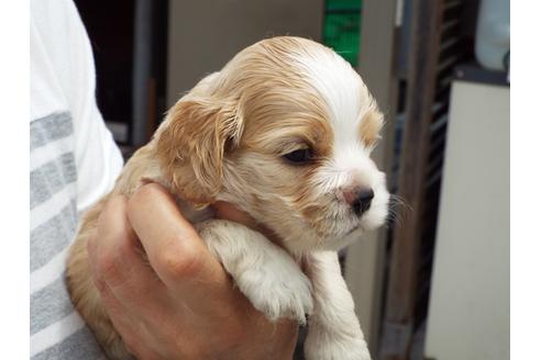
[[[509,359],[509,93],[453,85],[428,358]]]

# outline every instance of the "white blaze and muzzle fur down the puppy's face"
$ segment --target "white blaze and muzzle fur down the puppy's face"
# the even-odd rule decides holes
[[[358,136],[360,123],[375,102],[358,74],[334,52],[317,52],[310,55],[292,55],[305,69],[310,83],[324,99],[333,131],[333,156],[323,165],[314,178],[313,187],[323,195],[334,193],[342,198],[342,191],[350,187],[373,189],[375,196],[371,209],[358,216],[351,214],[345,202],[335,204],[334,217],[340,215],[334,238],[327,239],[325,248],[339,249],[351,243],[346,235],[361,235],[380,226],[387,216],[389,193],[385,175],[371,159],[371,147]],[[355,230],[358,228],[360,230]],[[347,236],[352,239],[352,236]]]

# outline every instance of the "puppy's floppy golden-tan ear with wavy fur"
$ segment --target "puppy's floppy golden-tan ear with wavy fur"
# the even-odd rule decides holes
[[[221,190],[223,157],[239,145],[243,121],[238,101],[199,97],[179,100],[157,134],[157,154],[172,190],[196,204]]]

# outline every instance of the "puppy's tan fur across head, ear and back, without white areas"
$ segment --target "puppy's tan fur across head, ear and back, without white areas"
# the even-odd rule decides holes
[[[329,104],[289,56],[318,52],[331,50],[302,38],[275,37],[239,53],[169,110],[111,194],[130,196],[145,181],[156,181],[178,198],[192,222],[200,221],[196,209],[224,200],[252,214],[290,252],[322,246],[336,232],[332,216],[338,216],[329,210],[336,196],[313,190],[316,172],[333,155]],[[377,109],[360,115],[365,117],[360,136],[371,146],[380,115]],[[305,147],[313,149],[310,165],[296,167],[281,158]],[[69,255],[68,285],[108,357],[126,359],[91,280],[86,249],[108,198],[82,220]]]

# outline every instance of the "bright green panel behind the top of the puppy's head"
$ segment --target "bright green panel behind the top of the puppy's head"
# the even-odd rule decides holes
[[[353,67],[358,63],[362,0],[327,0],[323,43]]]

